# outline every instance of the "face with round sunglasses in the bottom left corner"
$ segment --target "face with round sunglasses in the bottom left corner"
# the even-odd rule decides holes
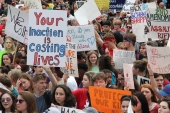
[[[6,93],[2,96],[1,103],[5,109],[10,109],[12,106],[13,100],[12,100],[11,96]]]

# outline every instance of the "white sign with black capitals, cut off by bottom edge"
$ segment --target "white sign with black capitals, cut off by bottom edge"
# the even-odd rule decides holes
[[[58,108],[58,110],[61,111],[61,113],[79,113],[79,112],[83,113],[82,110],[75,109],[75,108],[63,107],[54,104],[52,104],[51,106]]]

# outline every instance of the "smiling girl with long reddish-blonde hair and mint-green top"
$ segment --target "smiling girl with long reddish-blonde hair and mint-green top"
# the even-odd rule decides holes
[[[98,56],[95,51],[89,51],[87,53],[86,64],[88,66],[88,71],[99,72]]]

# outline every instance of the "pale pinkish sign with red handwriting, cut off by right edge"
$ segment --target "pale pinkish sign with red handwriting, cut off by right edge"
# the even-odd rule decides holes
[[[148,63],[154,73],[170,73],[170,48],[147,46]]]

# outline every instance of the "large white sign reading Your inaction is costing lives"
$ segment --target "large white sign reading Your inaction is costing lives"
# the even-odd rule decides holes
[[[66,11],[29,10],[27,65],[64,67],[66,32]]]

